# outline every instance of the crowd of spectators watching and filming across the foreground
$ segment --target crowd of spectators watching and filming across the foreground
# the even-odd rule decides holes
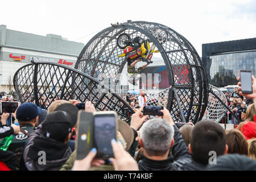
[[[238,82],[240,85],[240,82]],[[3,98],[4,97],[4,98]],[[1,100],[5,100],[3,96]],[[256,80],[253,94],[242,94],[241,88],[226,93],[229,106],[241,118],[230,123],[236,129],[224,130],[210,120],[177,125],[164,107],[163,116],[147,119],[143,105],[148,96],[122,96],[136,112],[130,125],[118,120],[117,139],[112,139],[114,158],[95,159],[92,148],[82,160],[76,160],[76,100],[53,100],[48,109],[32,102],[20,105],[15,113],[2,113],[0,126],[1,170],[256,170]],[[251,101],[250,101],[251,100]],[[42,101],[43,102],[43,101]],[[43,105],[43,104],[42,104]],[[247,108],[247,109],[246,109]],[[85,111],[96,109],[90,101]],[[229,113],[227,113],[229,114]],[[13,123],[7,123],[13,117]],[[42,156],[45,156],[43,158]]]

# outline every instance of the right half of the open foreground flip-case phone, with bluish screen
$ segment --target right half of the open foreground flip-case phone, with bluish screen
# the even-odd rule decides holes
[[[117,129],[118,122],[115,111],[98,111],[94,114],[96,158],[114,158],[111,140],[117,140]]]

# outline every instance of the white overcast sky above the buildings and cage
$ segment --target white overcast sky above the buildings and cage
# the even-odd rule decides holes
[[[256,38],[255,0],[214,1],[1,1],[0,24],[8,29],[57,34],[86,44],[93,35],[126,20],[164,24],[201,44]]]

